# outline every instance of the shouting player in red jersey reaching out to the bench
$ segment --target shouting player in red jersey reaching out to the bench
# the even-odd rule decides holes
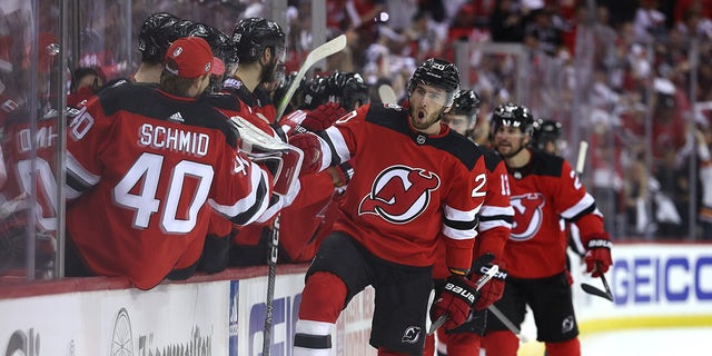
[[[466,276],[486,190],[484,151],[439,122],[459,72],[428,59],[407,88],[408,110],[366,105],[318,136],[290,139],[305,152],[303,174],[356,159],[334,231],[307,271],[294,355],[327,354],[342,309],[368,285],[376,291],[370,345],[379,355],[422,354],[441,238],[452,275],[432,317],[447,313],[444,327],[454,328],[476,301]]]

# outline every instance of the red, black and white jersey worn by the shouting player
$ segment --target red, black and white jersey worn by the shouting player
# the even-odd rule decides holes
[[[434,265],[442,234],[447,266],[469,269],[487,189],[484,150],[445,125],[418,132],[398,106],[363,106],[322,137],[323,168],[356,159],[335,230],[408,266]]]

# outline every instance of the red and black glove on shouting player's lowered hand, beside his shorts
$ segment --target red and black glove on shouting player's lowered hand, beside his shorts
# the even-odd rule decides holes
[[[469,309],[477,299],[477,286],[463,276],[447,277],[445,288],[431,307],[431,319],[437,320],[445,313],[449,315],[443,324],[446,330],[454,329],[467,320]]]

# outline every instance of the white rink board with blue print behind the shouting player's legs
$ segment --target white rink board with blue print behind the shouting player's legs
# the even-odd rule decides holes
[[[291,356],[304,275],[277,276],[270,333],[270,355]],[[259,356],[265,336],[267,278],[230,283],[230,356]],[[374,293],[367,288],[352,299],[332,330],[336,355],[375,355],[368,346]]]

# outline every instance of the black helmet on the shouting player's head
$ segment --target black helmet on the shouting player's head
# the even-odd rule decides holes
[[[415,69],[413,77],[408,80],[408,92],[413,92],[418,83],[447,91],[449,95],[447,106],[451,106],[453,96],[459,90],[459,70],[444,59],[431,58]]]

